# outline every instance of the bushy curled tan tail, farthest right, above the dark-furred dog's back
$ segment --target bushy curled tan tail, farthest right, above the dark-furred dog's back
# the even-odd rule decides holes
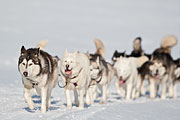
[[[171,49],[173,46],[177,44],[177,38],[174,35],[168,35],[163,38],[161,42],[161,48],[165,50],[167,53],[171,53]]]

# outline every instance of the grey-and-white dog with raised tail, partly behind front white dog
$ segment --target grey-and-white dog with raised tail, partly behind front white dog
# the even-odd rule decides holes
[[[101,100],[100,103],[105,103],[108,95],[108,88],[112,77],[114,76],[114,70],[110,63],[107,63],[104,59],[105,48],[104,44],[100,40],[95,40],[96,52],[95,54],[88,54],[90,59],[90,73],[91,73],[91,83],[95,83],[90,85],[89,89],[91,91],[91,103],[97,98],[97,86],[101,91]],[[99,52],[100,51],[100,52]]]

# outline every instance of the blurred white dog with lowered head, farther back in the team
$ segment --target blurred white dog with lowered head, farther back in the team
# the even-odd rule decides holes
[[[115,86],[121,97],[127,100],[135,98],[137,84],[137,65],[136,59],[133,57],[120,57],[114,65],[116,70]]]

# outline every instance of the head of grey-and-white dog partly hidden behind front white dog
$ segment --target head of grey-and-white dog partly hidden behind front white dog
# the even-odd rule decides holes
[[[92,79],[97,79],[101,74],[100,56],[91,56],[90,59],[90,75]]]

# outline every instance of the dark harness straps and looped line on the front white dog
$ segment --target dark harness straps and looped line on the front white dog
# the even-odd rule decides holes
[[[59,84],[59,82],[58,82],[58,86],[59,86],[60,88],[65,88],[68,83],[71,83],[71,82],[70,82],[71,79],[75,79],[75,78],[77,78],[77,77],[79,76],[79,74],[81,73],[81,71],[82,71],[82,68],[79,70],[78,74],[75,75],[74,77],[71,77],[71,78],[70,78],[70,77],[65,77],[65,78],[66,78],[66,84],[65,84],[64,86],[61,86],[61,85]],[[62,73],[62,71],[61,71],[61,73]],[[59,74],[59,76],[61,76],[61,75]],[[63,76],[65,76],[65,75],[63,74]],[[72,84],[73,84],[75,87],[78,86],[77,83],[72,83]]]

